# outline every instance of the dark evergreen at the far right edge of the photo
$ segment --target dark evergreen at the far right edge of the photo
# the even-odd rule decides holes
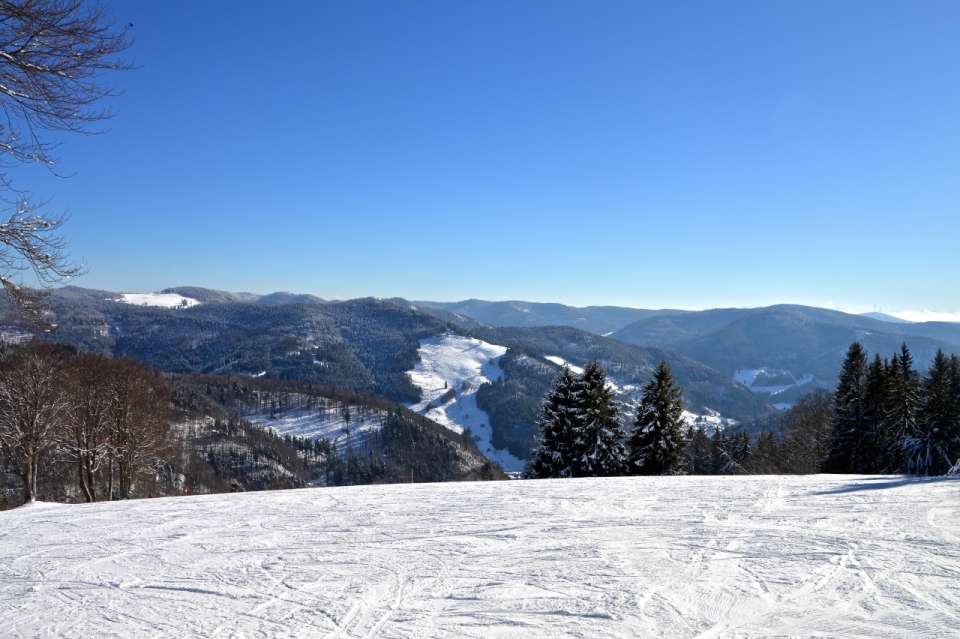
[[[955,394],[960,365],[937,350],[920,381],[920,404],[913,432],[904,440],[907,472],[943,475],[960,453],[960,415]]]

